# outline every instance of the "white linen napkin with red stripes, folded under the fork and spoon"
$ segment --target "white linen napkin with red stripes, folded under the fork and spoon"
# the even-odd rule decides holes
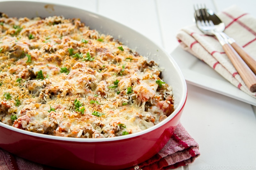
[[[235,5],[220,12],[218,16],[225,23],[224,33],[256,59],[256,18]],[[207,63],[231,84],[256,98],[256,92],[251,92],[245,85],[215,36],[203,34],[194,24],[182,28],[176,37],[183,49]]]

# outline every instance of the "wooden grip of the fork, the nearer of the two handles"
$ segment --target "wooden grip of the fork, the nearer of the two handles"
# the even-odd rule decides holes
[[[244,80],[245,85],[250,89],[251,92],[256,92],[256,75],[230,44],[224,44],[222,47],[236,68],[237,72]]]

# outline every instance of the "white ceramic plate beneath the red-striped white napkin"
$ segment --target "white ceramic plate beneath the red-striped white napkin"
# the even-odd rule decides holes
[[[239,90],[206,63],[183,50],[180,46],[173,50],[171,56],[179,65],[188,84],[196,85],[256,106],[255,98]]]

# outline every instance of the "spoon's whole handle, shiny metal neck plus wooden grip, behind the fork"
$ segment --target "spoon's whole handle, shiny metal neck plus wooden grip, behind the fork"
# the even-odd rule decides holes
[[[256,60],[252,58],[251,55],[249,55],[243,47],[241,47],[239,44],[236,43],[236,41],[233,38],[230,38],[226,33],[221,33],[221,36],[224,39],[227,39],[229,44],[236,50],[236,52],[241,56],[241,58],[244,60],[244,62],[250,67],[250,69],[254,72],[256,75]]]

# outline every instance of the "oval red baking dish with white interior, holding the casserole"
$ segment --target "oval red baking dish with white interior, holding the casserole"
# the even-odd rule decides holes
[[[47,8],[47,6],[51,8]],[[22,9],[22,10],[21,10]],[[0,122],[0,147],[24,159],[63,169],[123,169],[159,152],[172,136],[187,99],[185,79],[173,58],[140,33],[96,13],[60,4],[33,1],[0,2],[9,17],[62,15],[80,18],[85,25],[115,39],[163,67],[162,77],[172,85],[175,111],[164,121],[141,132],[109,138],[58,137],[17,129]]]

